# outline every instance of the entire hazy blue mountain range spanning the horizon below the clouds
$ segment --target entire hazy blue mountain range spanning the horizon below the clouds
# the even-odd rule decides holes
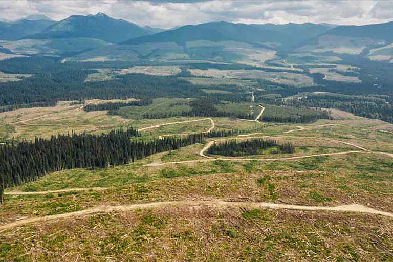
[[[363,55],[393,61],[393,22],[366,26],[330,24],[248,25],[225,21],[173,30],[138,26],[104,13],[61,21],[33,15],[0,22],[2,51],[56,54],[66,60],[209,60],[264,63],[277,53],[304,56]],[[265,57],[265,58],[264,58]],[[340,59],[340,58],[334,58]],[[323,60],[323,59],[322,59]],[[329,60],[329,59],[328,59]],[[325,60],[325,62],[328,62]]]

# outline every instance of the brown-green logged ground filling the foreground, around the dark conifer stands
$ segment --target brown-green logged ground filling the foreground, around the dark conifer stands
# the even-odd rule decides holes
[[[151,110],[159,112],[158,104]],[[233,106],[223,108],[264,113],[258,104]],[[86,124],[80,132],[131,125],[146,139],[212,128],[237,128],[241,134],[129,165],[54,172],[7,189],[0,206],[0,258],[393,259],[392,124],[338,110],[332,111],[335,120],[304,125],[230,118],[138,120],[90,112],[107,125],[98,129],[97,120],[83,123],[90,113],[82,107],[63,102],[2,113],[0,121],[15,128],[5,128],[14,137],[19,128],[32,128],[30,123],[37,124],[38,134],[48,134],[47,124],[67,132],[61,123]],[[253,156],[269,161],[204,156],[212,142],[264,136],[293,143],[295,153]]]

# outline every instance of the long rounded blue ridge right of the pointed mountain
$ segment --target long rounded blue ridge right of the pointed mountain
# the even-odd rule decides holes
[[[205,23],[195,26],[183,26],[153,35],[136,37],[121,42],[123,45],[138,45],[152,42],[176,42],[184,46],[186,42],[195,40],[238,41],[261,46],[291,47],[295,43],[328,32],[332,28],[311,23],[287,25],[247,25],[224,21]]]

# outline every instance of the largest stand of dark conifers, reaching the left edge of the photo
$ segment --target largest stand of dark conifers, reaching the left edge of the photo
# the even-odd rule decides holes
[[[91,134],[57,135],[18,144],[0,146],[0,176],[5,187],[31,182],[49,172],[77,167],[105,168],[134,162],[157,152],[178,149],[201,142],[205,134],[136,141],[136,129],[113,130],[100,136]]]

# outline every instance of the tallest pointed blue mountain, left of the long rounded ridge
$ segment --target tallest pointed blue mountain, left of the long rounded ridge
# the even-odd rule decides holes
[[[104,13],[96,15],[71,15],[46,28],[42,32],[30,34],[26,38],[97,38],[107,42],[120,42],[129,38],[149,35],[155,32],[142,28],[123,19],[114,19]]]

